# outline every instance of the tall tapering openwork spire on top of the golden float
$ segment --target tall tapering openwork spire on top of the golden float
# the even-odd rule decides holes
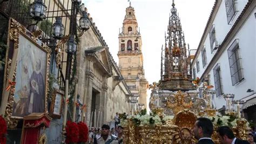
[[[161,90],[196,90],[191,84],[190,58],[187,57],[184,32],[174,1],[167,26],[167,37],[165,36],[164,56],[161,57],[164,59],[161,59],[164,61],[164,66],[161,62],[161,74],[163,74],[159,85]]]

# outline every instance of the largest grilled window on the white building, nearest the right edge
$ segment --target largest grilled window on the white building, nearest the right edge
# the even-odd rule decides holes
[[[228,61],[230,62],[230,73],[232,79],[232,85],[238,84],[244,79],[242,74],[241,61],[239,56],[239,44],[238,39],[235,39],[234,42],[227,50]]]

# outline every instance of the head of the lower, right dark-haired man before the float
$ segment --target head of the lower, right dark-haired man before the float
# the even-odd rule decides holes
[[[217,133],[220,142],[223,144],[232,143],[235,138],[233,131],[228,126],[219,127]]]

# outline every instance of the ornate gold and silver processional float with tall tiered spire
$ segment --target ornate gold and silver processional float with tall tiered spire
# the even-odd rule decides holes
[[[121,115],[123,142],[196,143],[192,129],[197,118],[201,116],[212,120],[212,139],[215,143],[220,143],[216,131],[223,125],[230,126],[237,138],[245,140],[248,125],[240,116],[241,102],[235,102],[238,112],[233,112],[234,95],[224,95],[228,109],[226,115],[221,116],[213,106],[213,86],[204,82],[199,87],[199,78],[192,80],[191,75],[191,57],[187,56],[184,33],[173,2],[167,37],[165,36],[165,49],[162,49],[161,54],[161,78],[159,84],[150,85],[151,115],[143,110],[135,115]]]

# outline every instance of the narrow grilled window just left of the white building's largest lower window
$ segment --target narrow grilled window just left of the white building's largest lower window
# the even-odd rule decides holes
[[[221,94],[223,94],[223,91],[221,88],[220,64],[217,64],[213,68],[213,75],[214,75],[214,85],[215,85],[216,97],[219,97]]]

